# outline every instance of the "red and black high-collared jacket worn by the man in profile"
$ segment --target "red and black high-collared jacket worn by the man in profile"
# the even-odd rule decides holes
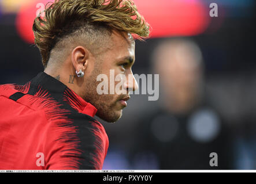
[[[44,72],[0,85],[0,169],[102,169],[109,140],[96,112]]]

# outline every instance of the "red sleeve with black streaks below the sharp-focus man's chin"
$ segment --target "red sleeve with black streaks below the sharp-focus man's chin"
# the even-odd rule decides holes
[[[50,124],[47,135],[52,138],[45,148],[48,169],[102,169],[109,141],[97,120],[73,112]]]

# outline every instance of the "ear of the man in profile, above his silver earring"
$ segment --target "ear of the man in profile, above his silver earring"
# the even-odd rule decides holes
[[[88,49],[77,46],[72,51],[72,64],[76,71],[85,71],[88,65]],[[75,72],[75,71],[74,71]]]

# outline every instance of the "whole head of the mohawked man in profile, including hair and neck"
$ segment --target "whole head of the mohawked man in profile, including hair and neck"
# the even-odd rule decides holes
[[[42,55],[45,72],[57,77],[97,109],[108,122],[117,121],[138,85],[132,77],[135,61],[133,36],[149,36],[149,25],[132,1],[59,0],[47,6],[44,17],[34,21],[35,44]],[[83,71],[79,78],[76,71]],[[121,94],[110,94],[110,76],[123,74]],[[98,94],[97,76],[105,74],[108,94]],[[111,81],[112,80],[112,81]],[[122,81],[122,80],[121,80]],[[116,86],[118,82],[114,82]],[[119,91],[119,92],[120,92]],[[116,91],[117,92],[117,91]],[[121,99],[124,99],[121,100]]]

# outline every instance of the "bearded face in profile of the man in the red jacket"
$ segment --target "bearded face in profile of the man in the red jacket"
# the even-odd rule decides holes
[[[113,31],[106,47],[97,57],[91,74],[86,76],[84,99],[98,109],[98,117],[107,122],[116,122],[127,106],[129,91],[138,89],[138,84],[132,74],[132,65],[135,62],[135,43],[131,39],[131,34]],[[100,74],[107,76],[107,80],[97,81]],[[120,78],[120,76],[123,77]],[[97,92],[97,86],[100,83],[107,86],[107,94]]]

